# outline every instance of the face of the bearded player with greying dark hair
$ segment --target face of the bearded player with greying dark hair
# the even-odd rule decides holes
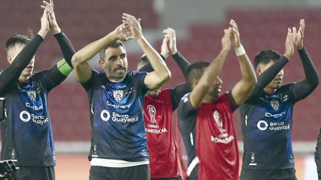
[[[126,51],[122,46],[108,47],[105,51],[105,59],[100,65],[106,70],[106,74],[113,80],[122,80],[127,72],[128,62]]]

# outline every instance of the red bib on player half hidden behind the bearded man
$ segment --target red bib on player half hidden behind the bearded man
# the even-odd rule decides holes
[[[172,89],[162,90],[155,98],[145,96],[144,100],[144,121],[152,178],[181,176],[174,139],[170,90]]]

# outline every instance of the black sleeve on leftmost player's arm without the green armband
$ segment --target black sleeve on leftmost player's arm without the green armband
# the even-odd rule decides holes
[[[0,91],[18,80],[22,71],[30,63],[38,47],[43,41],[44,39],[39,34],[36,34],[36,36],[31,39],[31,41],[19,52],[10,66],[6,68],[0,75]]]

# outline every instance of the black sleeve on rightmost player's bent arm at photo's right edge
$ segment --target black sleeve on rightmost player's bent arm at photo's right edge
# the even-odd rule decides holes
[[[301,100],[308,96],[316,88],[316,86],[319,84],[319,76],[309,54],[306,51],[305,46],[303,49],[298,50],[298,53],[302,60],[305,78],[294,85],[294,93],[296,100]]]

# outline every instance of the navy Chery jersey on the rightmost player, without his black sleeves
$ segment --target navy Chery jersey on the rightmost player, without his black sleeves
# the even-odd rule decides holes
[[[275,94],[264,91],[240,106],[244,142],[243,169],[294,167],[291,130],[294,83]]]

